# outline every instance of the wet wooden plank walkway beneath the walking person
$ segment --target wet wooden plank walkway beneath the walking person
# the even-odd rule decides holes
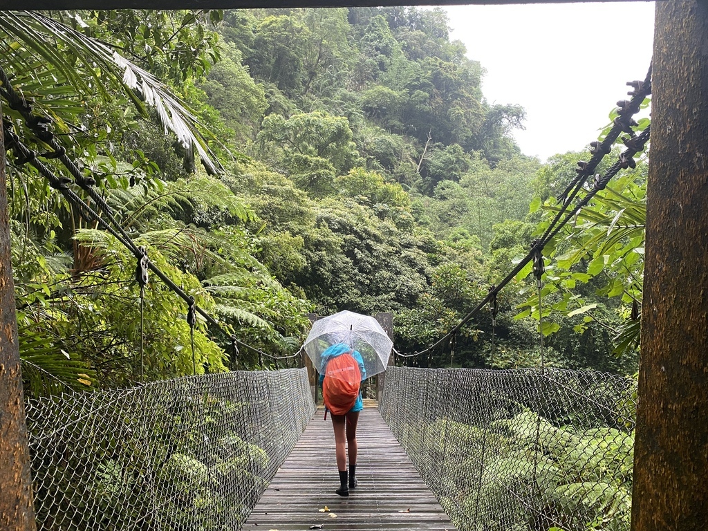
[[[244,530],[455,531],[379,412],[365,408],[357,438],[359,486],[339,486],[332,423],[319,409],[263,493]],[[329,513],[320,513],[324,507]],[[332,515],[336,515],[333,518]],[[323,525],[323,527],[312,527]]]

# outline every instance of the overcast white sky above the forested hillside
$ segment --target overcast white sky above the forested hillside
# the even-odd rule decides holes
[[[542,161],[587,149],[615,102],[629,99],[625,83],[644,79],[649,68],[653,2],[446,9],[450,38],[464,42],[467,57],[487,71],[484,96],[525,108],[526,130],[514,136],[523,153]]]

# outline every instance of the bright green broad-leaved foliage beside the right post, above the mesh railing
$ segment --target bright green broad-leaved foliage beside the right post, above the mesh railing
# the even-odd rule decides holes
[[[554,200],[545,202],[543,230],[559,209]],[[564,229],[550,246],[546,284],[549,296],[544,319],[572,319],[573,330],[586,335],[609,333],[617,342],[615,353],[630,363],[636,360],[644,271],[644,224],[646,220],[646,165],[618,178],[595,195],[578,220]],[[605,302],[592,302],[598,300]],[[533,296],[520,304],[518,317],[538,316]],[[631,314],[634,318],[627,322]],[[597,333],[597,332],[595,332]]]

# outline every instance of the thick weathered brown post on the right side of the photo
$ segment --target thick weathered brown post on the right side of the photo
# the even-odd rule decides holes
[[[656,2],[632,531],[708,522],[708,0]]]

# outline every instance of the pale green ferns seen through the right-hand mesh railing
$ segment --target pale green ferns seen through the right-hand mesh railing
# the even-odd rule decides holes
[[[532,411],[493,421],[489,428],[439,418],[409,429],[425,441],[429,459],[447,464],[446,489],[455,498],[441,503],[456,520],[474,517],[486,525],[527,530],[535,525],[527,507],[509,503],[518,493],[544,511],[543,521],[569,528],[584,524],[590,529],[629,530],[632,432],[579,430],[572,423],[557,426]],[[484,474],[478,483],[473,478],[479,474],[480,459]]]

